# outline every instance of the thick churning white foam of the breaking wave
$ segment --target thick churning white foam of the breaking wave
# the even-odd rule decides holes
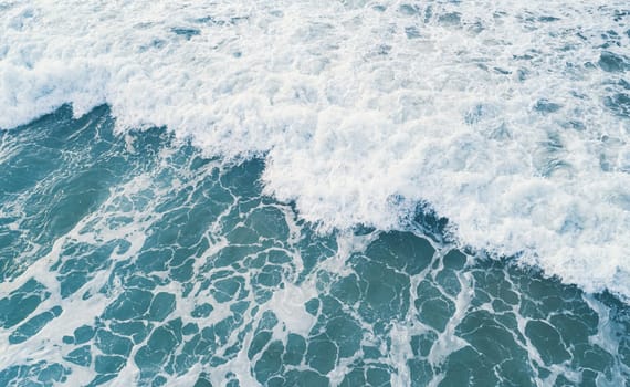
[[[309,221],[391,229],[392,198],[426,201],[462,243],[630,296],[623,7],[4,1],[0,127],[107,103],[120,130],[264,155]]]

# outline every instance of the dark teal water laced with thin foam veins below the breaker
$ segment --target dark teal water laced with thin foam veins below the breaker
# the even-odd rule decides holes
[[[624,303],[439,233],[319,234],[260,159],[102,106],[0,163],[1,386],[630,386]]]

